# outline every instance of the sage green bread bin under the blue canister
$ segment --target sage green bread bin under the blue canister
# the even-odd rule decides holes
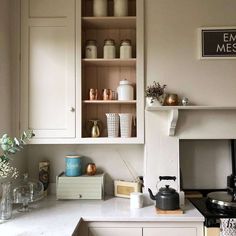
[[[57,199],[104,199],[105,174],[56,177]]]

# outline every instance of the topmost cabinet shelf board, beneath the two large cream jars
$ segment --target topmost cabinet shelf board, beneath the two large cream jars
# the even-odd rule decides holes
[[[136,17],[82,17],[82,26],[87,29],[135,29]]]

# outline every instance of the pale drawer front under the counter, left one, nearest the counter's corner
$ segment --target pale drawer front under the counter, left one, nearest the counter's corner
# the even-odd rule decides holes
[[[89,228],[89,236],[142,236],[142,228]]]

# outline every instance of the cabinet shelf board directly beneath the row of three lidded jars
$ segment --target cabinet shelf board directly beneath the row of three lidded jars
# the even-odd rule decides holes
[[[131,59],[82,59],[84,66],[136,66],[136,58]]]

